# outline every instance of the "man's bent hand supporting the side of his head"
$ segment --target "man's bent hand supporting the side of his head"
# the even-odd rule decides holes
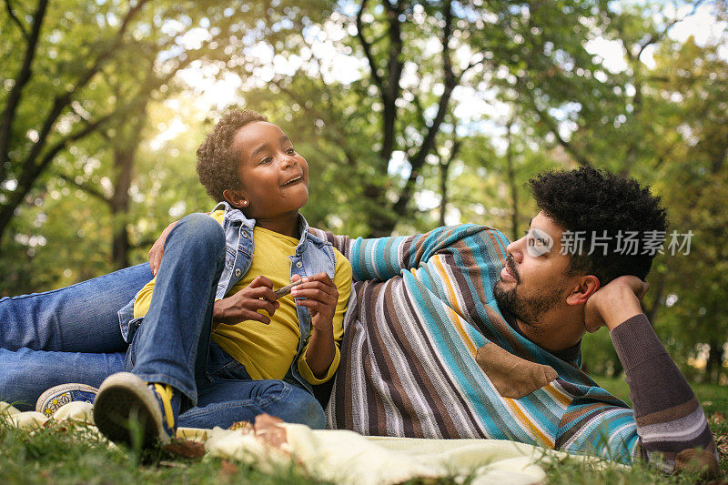
[[[633,276],[622,276],[599,288],[586,301],[584,327],[595,332],[602,326],[618,327],[622,322],[642,313],[640,301],[650,283]]]

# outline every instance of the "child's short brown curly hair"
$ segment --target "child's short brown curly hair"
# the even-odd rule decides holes
[[[233,147],[233,139],[240,128],[254,121],[268,118],[250,109],[233,109],[220,118],[197,148],[197,176],[216,202],[225,200],[223,190],[240,185],[240,150]]]

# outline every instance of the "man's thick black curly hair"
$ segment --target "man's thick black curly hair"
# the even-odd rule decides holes
[[[586,254],[591,239],[585,240],[584,253],[571,255],[571,274],[594,275],[602,287],[623,275],[647,277],[654,256],[642,254],[642,245],[638,254],[622,254],[617,236],[621,231],[639,231],[641,236],[646,231],[665,231],[665,209],[649,186],[591,167],[546,172],[531,178],[529,184],[536,204],[564,231],[608,237],[606,255],[603,249]]]

